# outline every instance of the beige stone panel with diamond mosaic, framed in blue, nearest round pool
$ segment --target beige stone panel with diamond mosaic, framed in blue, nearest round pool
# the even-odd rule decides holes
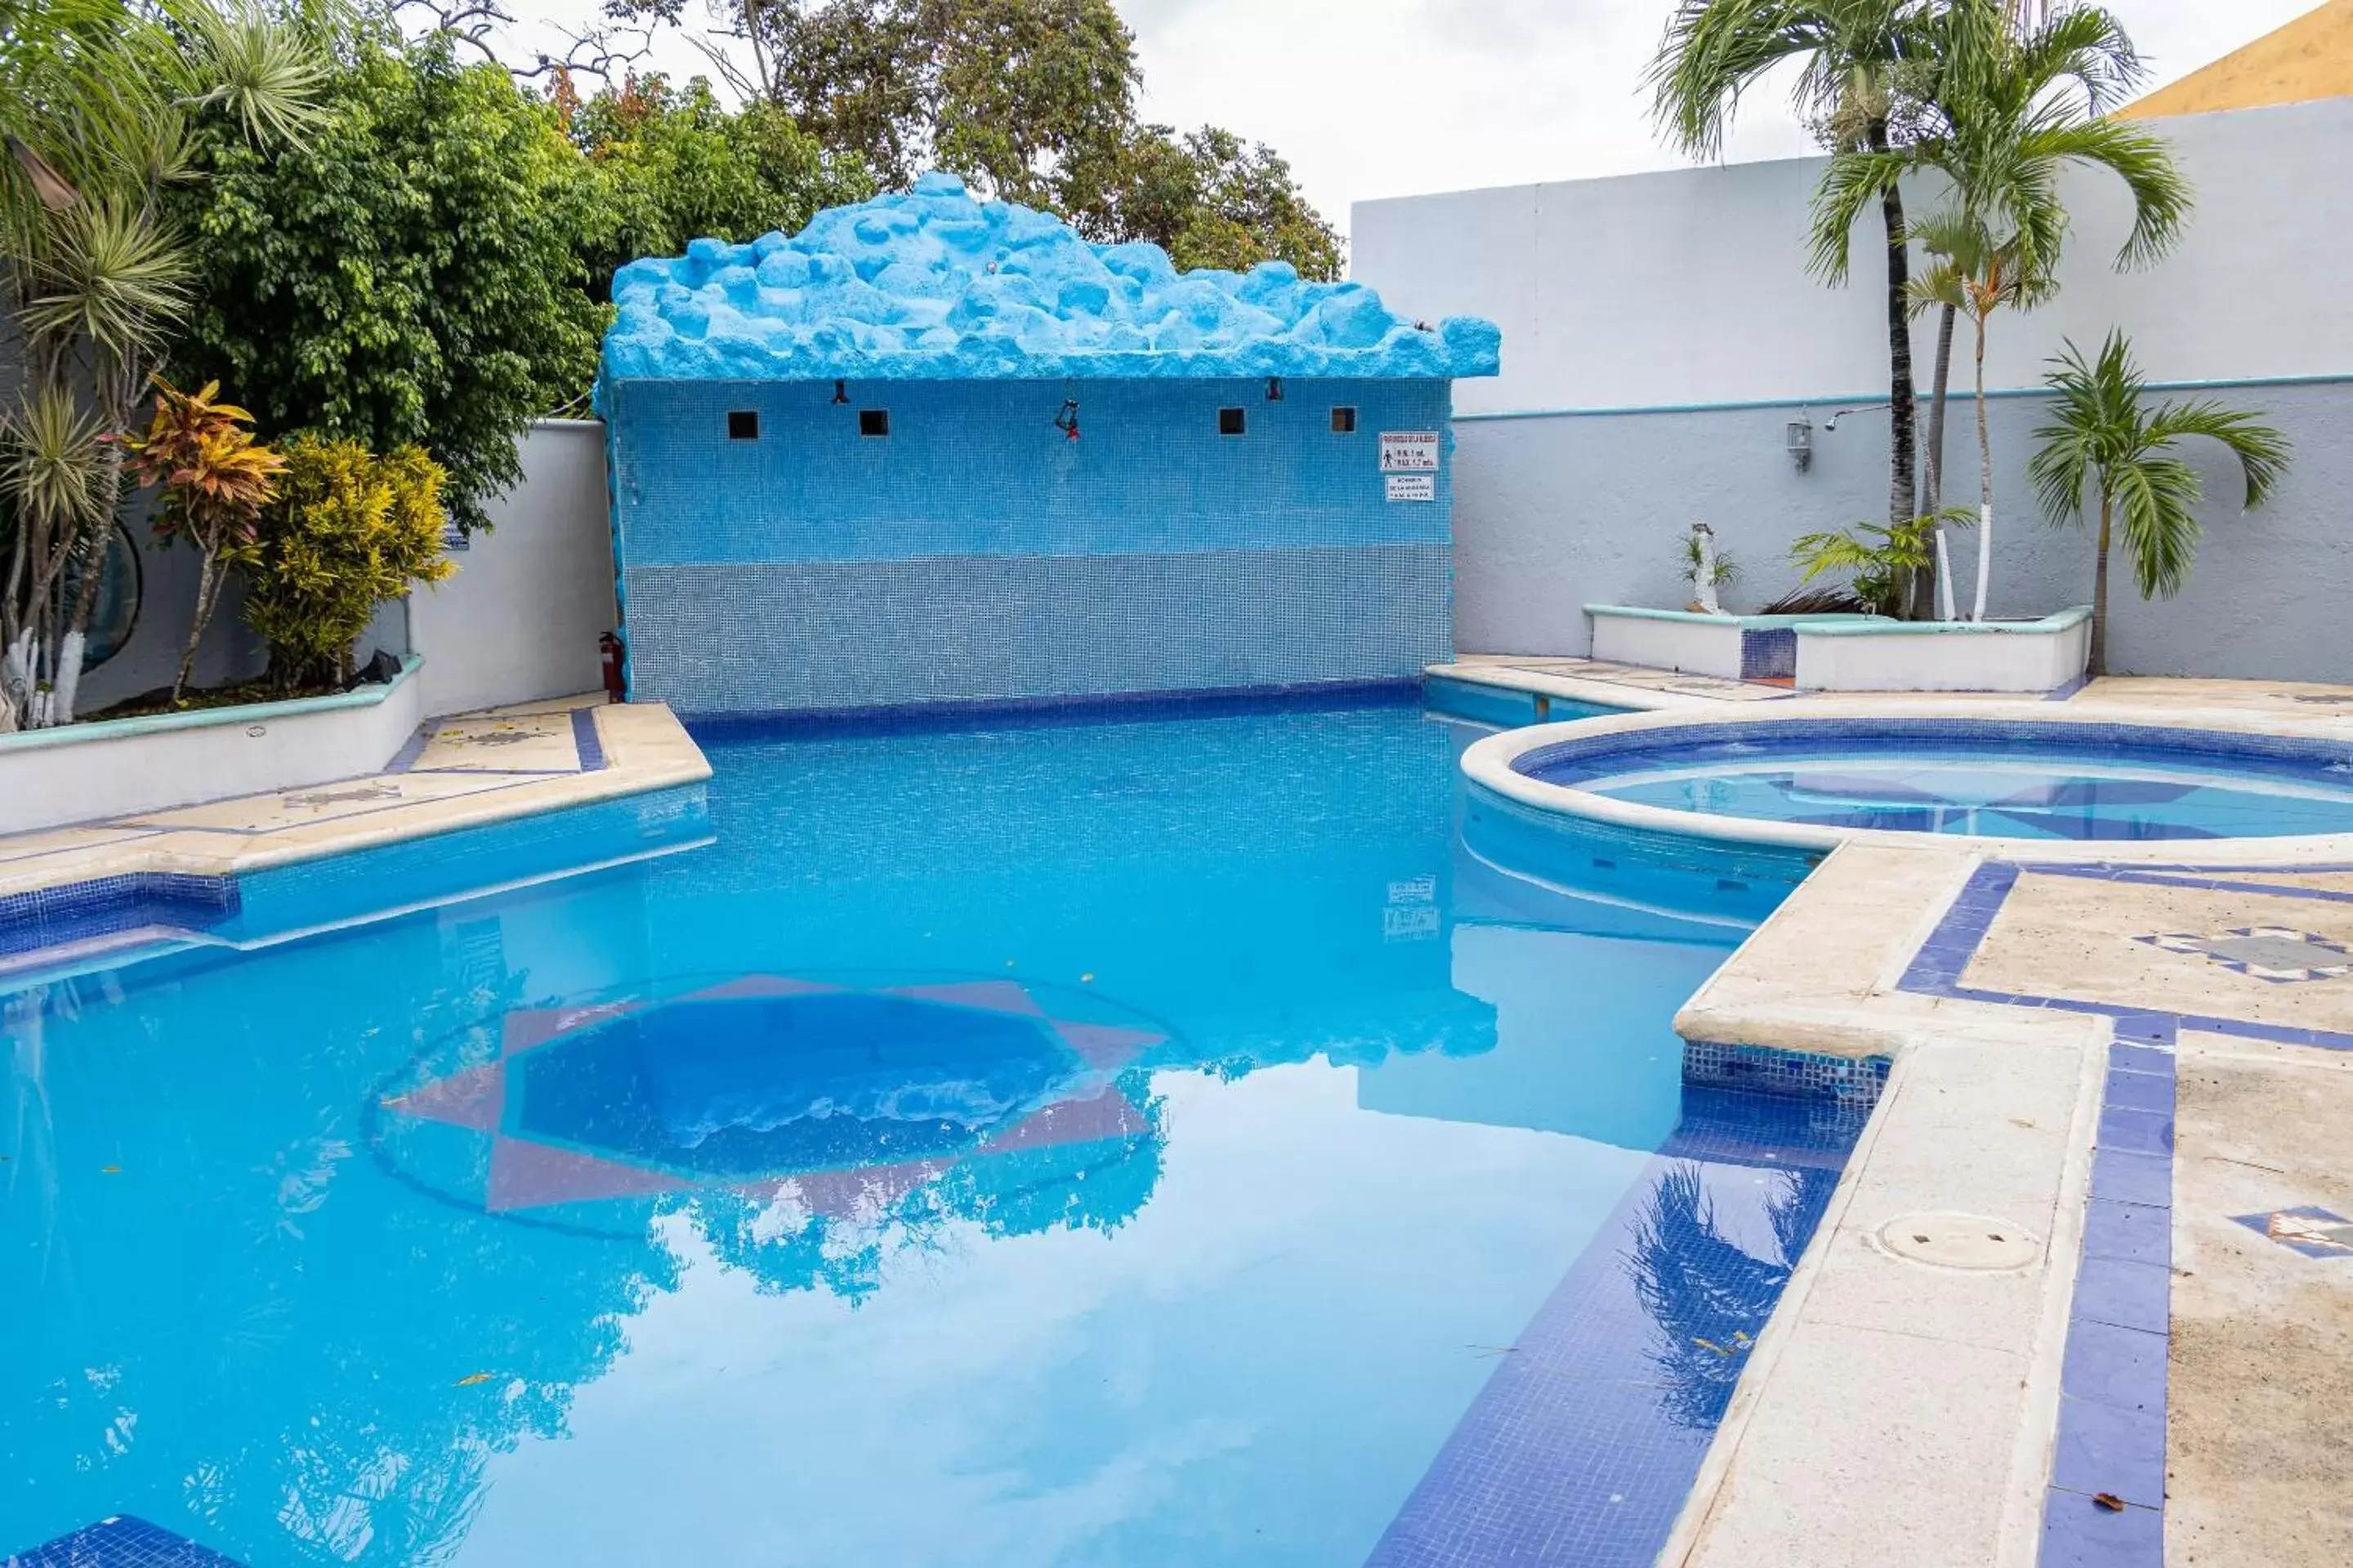
[[[2275,983],[2198,952],[2137,940],[2169,933],[2224,938],[2249,926],[2308,931],[2353,947],[2348,903],[2026,872],[1962,983],[2024,997],[2353,1030],[2353,976]]]

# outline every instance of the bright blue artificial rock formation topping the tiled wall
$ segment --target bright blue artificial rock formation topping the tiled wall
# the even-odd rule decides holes
[[[1494,322],[1428,327],[1282,261],[1179,273],[1158,244],[976,202],[953,174],[793,237],[694,240],[612,280],[602,383],[1059,376],[1492,376]],[[602,397],[600,397],[602,407]]]

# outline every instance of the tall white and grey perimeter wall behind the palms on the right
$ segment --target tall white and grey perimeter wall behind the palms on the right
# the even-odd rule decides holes
[[[2111,663],[2144,672],[2353,679],[2334,607],[2353,599],[2353,99],[2155,120],[2198,188],[2184,244],[2113,273],[2129,205],[2071,174],[2061,296],[1995,320],[1986,383],[2040,383],[2064,339],[2132,334],[2155,381],[2214,388],[2297,440],[2278,501],[2240,515],[2231,470],[2207,473],[2207,545],[2191,592],[2141,604],[2120,585]],[[1586,602],[1680,607],[1675,536],[1694,520],[1746,567],[1729,604],[1795,581],[1798,534],[1885,520],[1887,339],[1878,212],[1857,226],[1854,280],[1805,273],[1807,197],[1824,160],[1360,202],[1353,275],[1398,310],[1487,315],[1504,374],[1459,381],[1454,628],[1466,651],[1581,654]],[[1915,190],[1918,209],[1934,190]],[[1967,327],[1955,390],[1967,390]],[[1927,390],[1932,322],[1913,329]],[[2346,383],[2278,386],[2344,376]],[[1795,473],[1781,428],[1814,421]],[[1532,418],[1508,418],[1532,414]],[[2033,397],[1995,404],[1995,614],[2040,616],[2089,592],[2089,545],[2042,524],[2024,482]],[[1955,400],[1946,501],[1974,503],[1969,407]],[[1967,543],[1960,576],[1974,574]]]

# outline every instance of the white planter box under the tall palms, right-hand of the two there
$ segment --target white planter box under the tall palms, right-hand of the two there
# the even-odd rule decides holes
[[[2082,679],[2092,607],[2040,621],[1861,621],[1798,628],[1802,691],[2057,691]]]

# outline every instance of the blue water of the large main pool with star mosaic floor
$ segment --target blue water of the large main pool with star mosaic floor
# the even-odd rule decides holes
[[[19,987],[0,1556],[1647,1563],[1854,1112],[1668,1027],[1800,867],[1475,733],[715,736],[708,846]]]

